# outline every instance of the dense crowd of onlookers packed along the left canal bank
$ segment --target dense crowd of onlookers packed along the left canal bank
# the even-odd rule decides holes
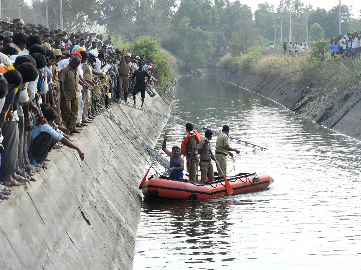
[[[48,153],[91,125],[104,108],[156,94],[152,58],[114,48],[110,36],[0,19],[0,202],[36,181]],[[80,130],[79,130],[80,129]]]

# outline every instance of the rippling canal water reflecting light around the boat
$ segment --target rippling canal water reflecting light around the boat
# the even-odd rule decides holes
[[[361,269],[359,141],[211,75],[181,78],[175,96],[173,116],[227,124],[230,136],[269,149],[231,143],[240,154],[228,176],[264,171],[274,183],[212,200],[143,199],[135,270]],[[173,122],[164,132],[169,149],[186,134]]]

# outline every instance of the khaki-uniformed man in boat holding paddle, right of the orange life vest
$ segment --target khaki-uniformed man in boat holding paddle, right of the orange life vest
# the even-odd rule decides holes
[[[215,158],[210,153],[210,149],[208,143],[210,145],[210,140],[212,139],[213,132],[207,130],[204,134],[205,139],[201,140],[198,146],[198,154],[199,154],[199,168],[201,170],[201,182],[205,182],[207,177],[208,181],[212,182],[214,180],[214,170],[212,159],[214,161]]]

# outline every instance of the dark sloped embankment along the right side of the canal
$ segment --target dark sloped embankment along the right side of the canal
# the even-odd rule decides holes
[[[325,127],[357,140],[361,139],[360,90],[335,89],[320,96],[318,93],[322,84],[315,86],[305,82],[300,86],[290,86],[278,78],[249,73],[228,73],[226,70],[219,71],[217,77],[269,98]]]

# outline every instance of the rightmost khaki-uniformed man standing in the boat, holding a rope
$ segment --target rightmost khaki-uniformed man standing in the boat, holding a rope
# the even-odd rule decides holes
[[[239,154],[239,150],[233,149],[229,146],[228,133],[229,133],[229,126],[224,125],[221,135],[217,137],[216,154],[214,155],[225,176],[227,175],[227,156],[230,155],[231,157],[233,157],[233,154],[230,151]],[[222,173],[219,170],[218,170],[218,175],[222,175]]]

